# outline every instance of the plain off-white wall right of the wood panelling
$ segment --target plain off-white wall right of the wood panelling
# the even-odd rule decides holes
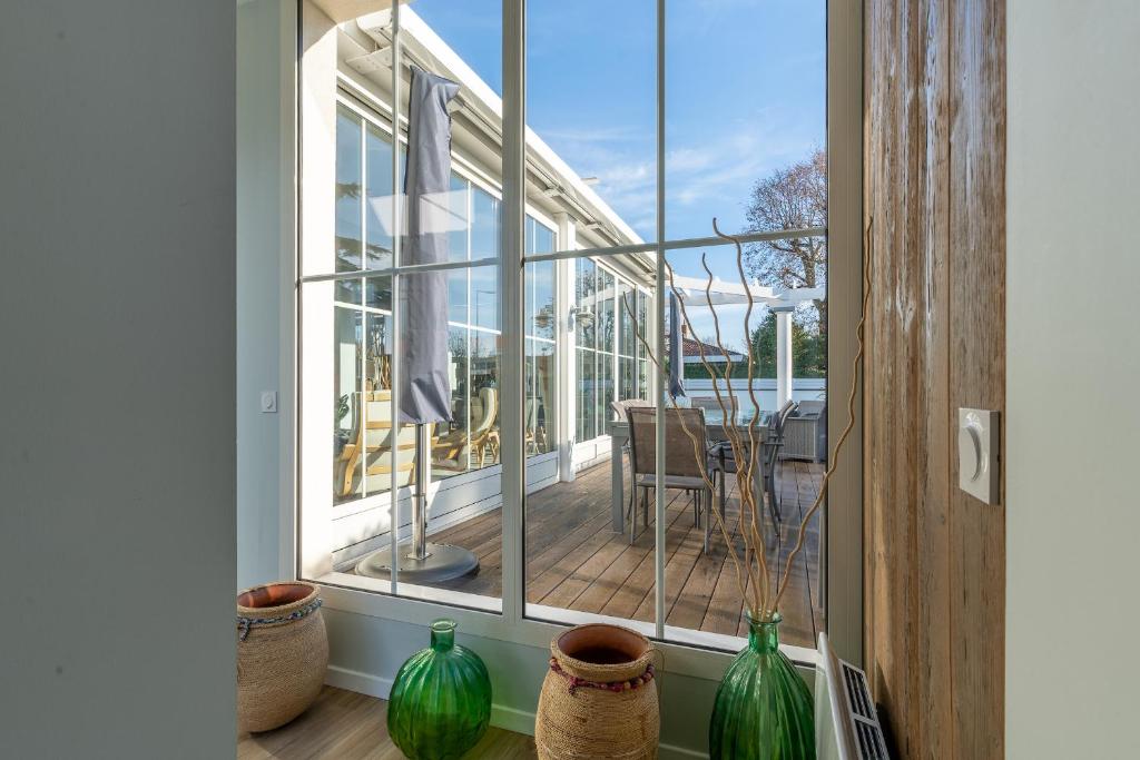
[[[1010,0],[1008,35],[1007,750],[1134,758],[1140,5]]]

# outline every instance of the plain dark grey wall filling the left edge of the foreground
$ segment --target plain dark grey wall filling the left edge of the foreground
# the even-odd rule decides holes
[[[234,2],[0,15],[0,755],[233,757]]]

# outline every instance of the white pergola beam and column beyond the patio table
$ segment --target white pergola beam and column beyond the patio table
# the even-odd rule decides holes
[[[744,305],[751,294],[752,303],[764,305],[776,314],[776,409],[791,401],[792,354],[791,354],[791,314],[796,307],[808,301],[826,297],[822,287],[797,287],[777,291],[756,281],[744,289],[742,283],[730,283],[719,277],[712,279],[711,286],[700,277],[682,277],[674,275],[673,284],[686,307],[708,308],[719,305]],[[746,336],[746,340],[747,336]]]

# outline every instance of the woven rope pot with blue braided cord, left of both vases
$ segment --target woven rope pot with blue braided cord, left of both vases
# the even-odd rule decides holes
[[[312,704],[325,683],[328,639],[311,583],[255,586],[237,595],[237,725],[267,732]]]

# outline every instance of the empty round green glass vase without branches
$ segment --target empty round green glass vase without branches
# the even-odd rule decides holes
[[[431,646],[396,673],[388,733],[412,760],[451,760],[473,747],[491,719],[491,679],[471,649],[455,643],[455,621],[431,624]]]

